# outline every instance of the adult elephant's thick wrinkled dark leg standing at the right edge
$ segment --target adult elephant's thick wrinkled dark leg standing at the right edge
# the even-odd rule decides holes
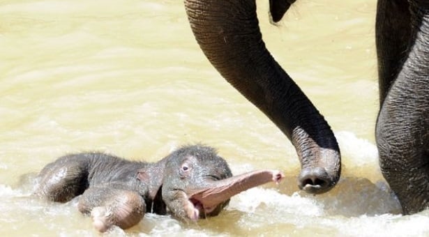
[[[380,87],[389,87],[380,91],[386,93],[376,128],[380,167],[402,211],[416,213],[429,207],[429,8],[410,1],[406,13],[399,9],[406,1],[378,5],[377,52],[379,75],[384,76]],[[396,48],[400,38],[409,43],[404,59]]]

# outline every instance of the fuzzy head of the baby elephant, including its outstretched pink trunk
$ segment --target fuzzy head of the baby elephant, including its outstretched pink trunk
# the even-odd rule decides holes
[[[184,221],[218,215],[235,194],[284,177],[269,170],[232,176],[227,162],[209,146],[183,147],[165,160],[162,199]]]

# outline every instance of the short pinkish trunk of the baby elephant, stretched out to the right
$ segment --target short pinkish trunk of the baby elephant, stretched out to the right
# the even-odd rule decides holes
[[[255,170],[245,174],[232,176],[220,181],[210,181],[206,187],[200,190],[194,190],[190,195],[190,199],[200,201],[203,206],[213,207],[224,201],[227,201],[232,196],[254,188],[258,185],[263,185],[271,181],[279,183],[285,176],[280,171],[272,170]]]

